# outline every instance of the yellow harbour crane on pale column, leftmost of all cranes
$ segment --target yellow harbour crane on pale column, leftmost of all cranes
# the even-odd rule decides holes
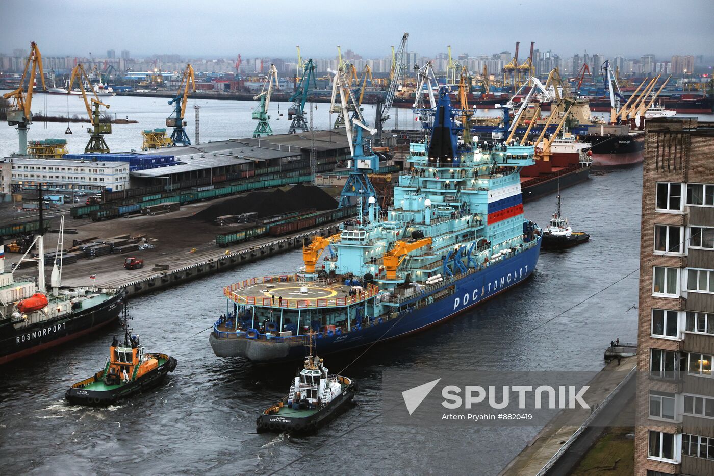
[[[32,64],[32,68],[30,68]],[[47,90],[44,84],[44,71],[42,71],[42,55],[40,54],[37,44],[32,41],[30,44],[30,56],[25,63],[25,69],[22,71],[20,85],[14,91],[3,94],[5,99],[12,98],[12,104],[7,111],[7,123],[10,126],[17,126],[17,134],[19,137],[19,153],[27,155],[27,129],[32,124],[32,91],[35,89],[35,74],[39,69],[40,81],[42,89]],[[29,73],[28,73],[29,71]],[[25,80],[27,80],[27,91],[25,91]]]

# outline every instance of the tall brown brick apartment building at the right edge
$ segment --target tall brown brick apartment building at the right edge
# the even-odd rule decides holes
[[[714,475],[714,124],[645,140],[635,475]]]

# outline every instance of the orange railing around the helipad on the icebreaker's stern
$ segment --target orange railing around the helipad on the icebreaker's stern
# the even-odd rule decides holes
[[[273,278],[273,279],[271,279]],[[288,279],[290,278],[290,279]],[[261,280],[262,279],[262,280]],[[357,294],[349,297],[330,297],[330,298],[313,298],[313,299],[293,299],[291,297],[285,297],[283,299],[276,299],[275,297],[266,296],[241,296],[236,291],[243,289],[251,284],[261,284],[269,282],[286,282],[286,281],[299,281],[293,276],[263,276],[262,278],[252,278],[246,279],[243,282],[231,284],[223,288],[223,295],[233,302],[238,304],[244,304],[246,306],[261,306],[261,307],[275,307],[278,309],[313,309],[320,307],[340,307],[348,306],[351,304],[356,304],[358,302],[366,301],[377,295],[379,288],[373,284],[366,284],[366,291],[358,292]],[[306,282],[306,284],[312,284]],[[319,283],[318,283],[319,284]]]

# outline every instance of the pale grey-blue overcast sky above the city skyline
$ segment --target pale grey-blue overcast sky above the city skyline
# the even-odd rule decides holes
[[[714,0],[0,0],[0,53],[36,41],[45,56],[151,54],[325,58],[353,49],[433,56],[513,51],[531,41],[561,56],[714,55]]]

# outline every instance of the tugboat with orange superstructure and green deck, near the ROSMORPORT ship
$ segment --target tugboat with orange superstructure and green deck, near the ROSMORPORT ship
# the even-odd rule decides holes
[[[122,398],[148,390],[176,369],[176,359],[167,354],[148,353],[139,344],[139,336],[131,335],[124,307],[124,343],[116,337],[109,347],[104,370],[72,385],[64,394],[66,400],[78,405],[111,405]]]

